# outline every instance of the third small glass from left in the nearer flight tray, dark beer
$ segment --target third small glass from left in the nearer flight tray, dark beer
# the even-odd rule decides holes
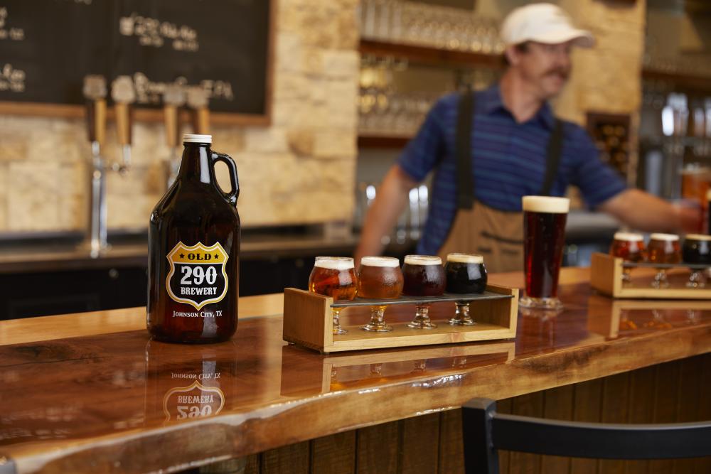
[[[439,296],[444,293],[442,259],[432,255],[407,255],[402,265],[405,286],[402,293],[410,296]],[[437,325],[429,319],[429,305],[418,304],[410,328],[432,329]]]

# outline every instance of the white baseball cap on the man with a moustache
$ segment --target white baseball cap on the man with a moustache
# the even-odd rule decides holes
[[[511,11],[501,24],[501,40],[507,46],[525,41],[548,44],[572,41],[582,48],[595,44],[592,33],[572,26],[565,11],[553,4],[530,4]]]

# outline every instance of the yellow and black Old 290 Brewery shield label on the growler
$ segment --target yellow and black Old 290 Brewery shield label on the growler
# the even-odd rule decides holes
[[[225,264],[228,254],[222,245],[215,243],[210,247],[198,242],[192,247],[178,242],[168,254],[171,271],[166,279],[166,289],[173,300],[188,303],[200,310],[208,303],[222,301],[230,284]],[[218,317],[215,313],[178,312],[173,316],[181,317]]]

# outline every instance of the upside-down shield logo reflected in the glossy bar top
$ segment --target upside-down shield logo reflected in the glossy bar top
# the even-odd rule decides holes
[[[205,387],[197,380],[188,387],[170,389],[163,397],[166,421],[214,416],[225,406],[225,394],[216,387]]]

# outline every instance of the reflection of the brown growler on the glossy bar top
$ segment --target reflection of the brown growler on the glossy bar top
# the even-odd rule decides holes
[[[215,416],[235,396],[233,341],[184,348],[156,340],[146,345],[146,422],[172,424]]]

